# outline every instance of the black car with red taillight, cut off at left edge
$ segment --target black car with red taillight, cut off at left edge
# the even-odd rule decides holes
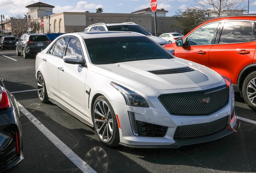
[[[20,163],[23,157],[18,102],[0,79],[0,171]]]

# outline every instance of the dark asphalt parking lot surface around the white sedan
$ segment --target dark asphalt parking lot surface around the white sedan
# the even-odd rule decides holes
[[[25,159],[5,172],[256,172],[256,112],[239,94],[235,95],[235,111],[241,122],[237,133],[178,149],[108,148],[98,141],[91,127],[58,106],[37,99],[35,57],[24,59],[16,56],[15,50],[0,50],[0,77],[23,111]],[[57,139],[44,135],[36,125],[45,127],[47,134]],[[63,144],[66,147],[62,148]],[[69,159],[70,155],[81,159],[82,168],[76,159]]]

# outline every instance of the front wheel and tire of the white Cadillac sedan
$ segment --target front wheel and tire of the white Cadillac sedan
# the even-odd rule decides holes
[[[119,145],[120,136],[116,115],[104,96],[99,96],[93,105],[93,125],[101,143],[107,147]]]

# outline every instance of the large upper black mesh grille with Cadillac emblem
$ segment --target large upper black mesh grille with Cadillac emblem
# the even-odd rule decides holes
[[[210,115],[227,105],[229,88],[207,94],[190,92],[180,93],[178,96],[161,95],[159,100],[172,115]]]

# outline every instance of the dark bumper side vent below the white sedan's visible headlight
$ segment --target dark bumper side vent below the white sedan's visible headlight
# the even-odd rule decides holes
[[[143,137],[164,137],[168,127],[136,121],[138,136]]]

